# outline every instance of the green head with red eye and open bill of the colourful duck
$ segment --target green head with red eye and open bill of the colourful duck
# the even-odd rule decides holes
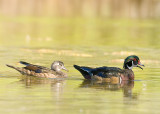
[[[131,55],[124,60],[123,68],[132,69],[133,67],[138,67],[143,70],[141,66],[144,66],[144,65],[141,64],[139,57],[136,55]]]

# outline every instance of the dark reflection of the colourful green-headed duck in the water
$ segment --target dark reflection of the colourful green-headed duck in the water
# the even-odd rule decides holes
[[[94,89],[103,89],[108,91],[123,91],[124,98],[136,99],[137,94],[132,92],[134,88],[134,81],[122,81],[121,83],[115,82],[99,82],[92,80],[84,80],[80,85],[82,88],[94,88]]]

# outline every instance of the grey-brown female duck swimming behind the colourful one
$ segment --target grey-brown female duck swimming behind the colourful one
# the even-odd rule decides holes
[[[51,64],[51,69],[43,66],[33,65],[24,61],[20,61],[21,64],[26,67],[14,67],[11,65],[7,65],[17,71],[19,71],[23,75],[29,76],[37,76],[37,77],[45,77],[45,78],[65,78],[67,74],[62,72],[61,69],[68,71],[63,62],[54,61]]]

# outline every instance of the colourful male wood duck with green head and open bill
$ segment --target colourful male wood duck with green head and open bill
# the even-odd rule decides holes
[[[136,55],[128,56],[124,60],[123,69],[117,67],[99,67],[90,68],[74,65],[74,67],[83,75],[85,79],[101,80],[101,81],[121,81],[121,80],[134,80],[133,67],[139,67],[143,70],[139,57]]]

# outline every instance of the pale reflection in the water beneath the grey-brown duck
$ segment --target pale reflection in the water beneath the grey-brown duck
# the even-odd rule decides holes
[[[31,88],[35,85],[43,85],[38,88],[36,87],[36,89],[40,89],[42,92],[46,92],[46,90],[50,89],[53,98],[57,100],[59,100],[60,96],[63,94],[64,85],[66,84],[65,79],[47,79],[32,76],[22,76],[20,82],[24,83],[26,88]],[[45,86],[50,87],[46,88]]]

